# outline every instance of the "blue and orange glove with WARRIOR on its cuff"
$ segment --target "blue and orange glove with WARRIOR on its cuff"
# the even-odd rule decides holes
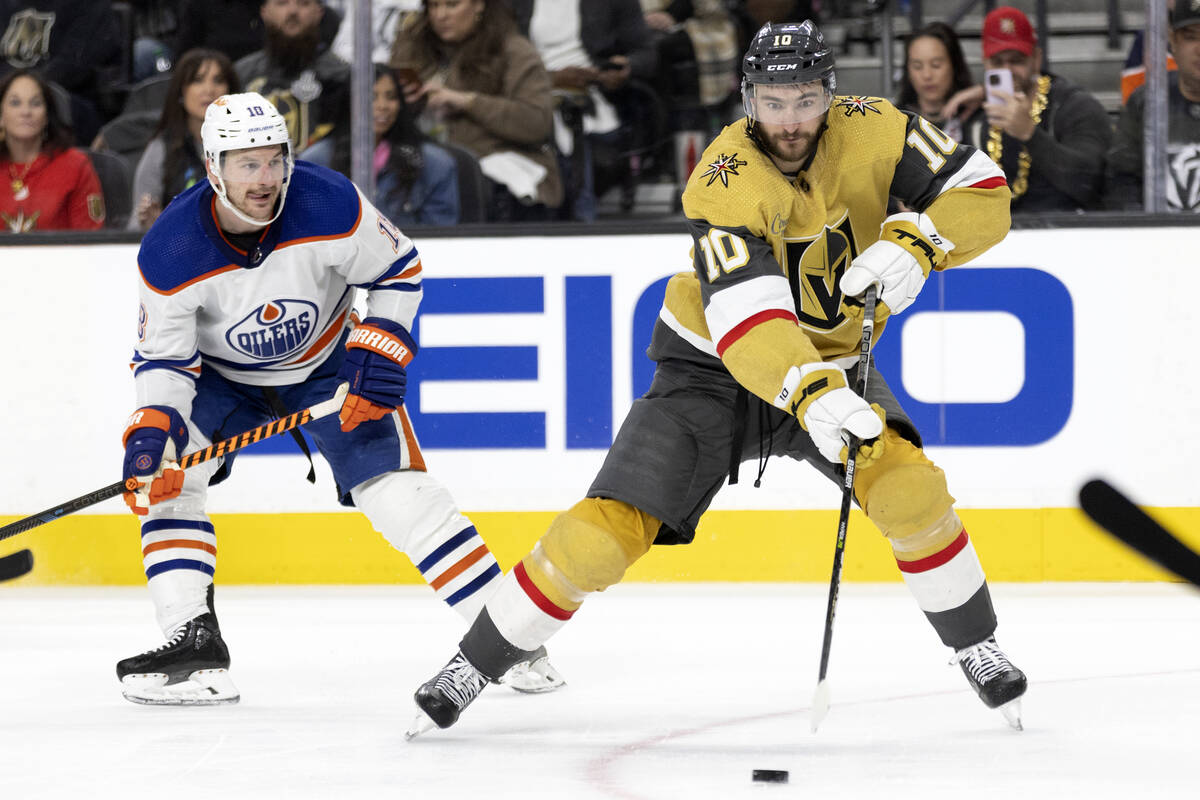
[[[404,367],[415,353],[408,331],[390,319],[367,317],[350,332],[346,361],[337,371],[338,379],[350,385],[337,415],[342,431],[380,420],[403,404],[408,385]]]

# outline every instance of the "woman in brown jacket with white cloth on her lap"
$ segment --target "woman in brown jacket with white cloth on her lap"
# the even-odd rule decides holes
[[[434,139],[466,148],[491,185],[490,221],[546,221],[563,201],[550,76],[504,0],[425,0],[391,65]]]

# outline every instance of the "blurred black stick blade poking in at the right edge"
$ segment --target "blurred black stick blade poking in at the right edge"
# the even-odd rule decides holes
[[[1200,587],[1200,554],[1105,481],[1085,483],[1079,489],[1079,507],[1092,522],[1151,561]]]

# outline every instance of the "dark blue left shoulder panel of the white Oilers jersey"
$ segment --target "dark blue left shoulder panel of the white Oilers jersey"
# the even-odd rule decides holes
[[[208,181],[196,184],[172,200],[142,237],[138,269],[151,289],[172,293],[229,264],[200,224],[200,215],[212,212],[214,197]]]

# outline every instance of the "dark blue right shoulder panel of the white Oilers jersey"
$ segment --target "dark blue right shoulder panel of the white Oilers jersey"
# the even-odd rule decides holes
[[[358,190],[338,172],[298,161],[280,217],[280,243],[296,239],[340,239],[354,233],[362,215]]]

